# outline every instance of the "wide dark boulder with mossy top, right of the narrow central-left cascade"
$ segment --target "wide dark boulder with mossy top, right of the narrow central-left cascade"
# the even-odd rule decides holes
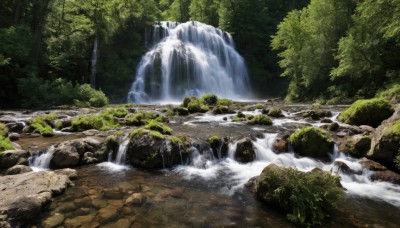
[[[189,153],[188,144],[183,139],[141,130],[131,135],[126,157],[135,167],[157,169],[182,164]]]

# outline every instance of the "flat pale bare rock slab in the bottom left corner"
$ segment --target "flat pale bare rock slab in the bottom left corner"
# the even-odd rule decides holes
[[[51,171],[0,177],[0,227],[27,225],[70,184],[68,176]]]

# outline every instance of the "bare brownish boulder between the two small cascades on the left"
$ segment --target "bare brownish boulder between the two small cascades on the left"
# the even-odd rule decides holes
[[[89,159],[102,147],[103,142],[97,138],[75,139],[55,146],[50,168],[68,168],[79,164],[95,163],[97,159]],[[90,153],[90,154],[86,154]],[[85,155],[86,154],[86,155]]]

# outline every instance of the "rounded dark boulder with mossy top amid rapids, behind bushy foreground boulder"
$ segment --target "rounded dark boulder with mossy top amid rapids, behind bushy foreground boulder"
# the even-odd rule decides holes
[[[334,145],[326,131],[314,127],[297,130],[290,135],[289,142],[297,154],[318,159],[328,159]]]

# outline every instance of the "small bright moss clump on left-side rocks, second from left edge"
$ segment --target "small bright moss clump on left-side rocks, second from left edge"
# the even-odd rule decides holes
[[[57,119],[57,114],[35,116],[29,120],[28,132],[39,132],[43,137],[51,137],[54,135],[52,123]]]

